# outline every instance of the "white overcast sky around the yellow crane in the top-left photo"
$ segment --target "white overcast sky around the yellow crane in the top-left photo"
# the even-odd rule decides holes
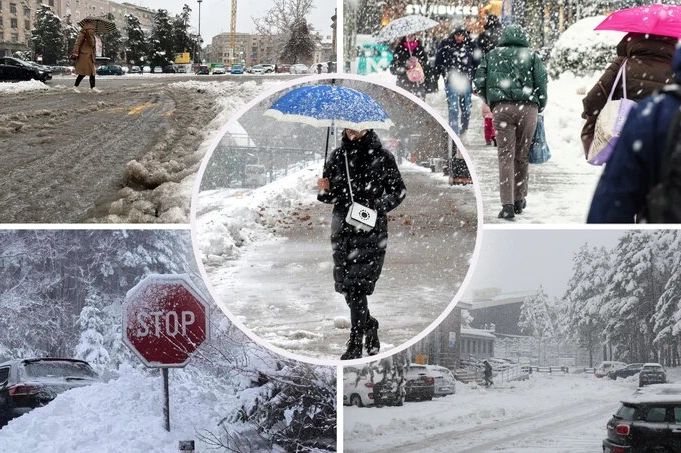
[[[164,8],[171,15],[180,13],[186,3],[192,9],[192,27],[198,29],[199,4],[196,0],[114,0],[118,3],[132,3],[151,9]],[[239,0],[237,7],[236,29],[238,32],[254,31],[253,17],[259,17],[272,7],[271,0]],[[229,31],[231,0],[203,0],[201,3],[201,34],[206,44],[213,36]],[[331,16],[336,8],[336,0],[315,0],[308,21],[322,35],[331,34]]]

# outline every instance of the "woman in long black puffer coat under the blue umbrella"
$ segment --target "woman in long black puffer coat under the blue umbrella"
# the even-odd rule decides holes
[[[345,222],[352,205],[346,156],[355,202],[377,212],[376,226],[370,231]],[[345,296],[350,307],[350,340],[341,360],[362,357],[364,335],[367,353],[375,355],[380,349],[378,321],[369,314],[367,296],[374,292],[383,267],[388,245],[387,213],[404,200],[407,188],[395,158],[383,149],[376,133],[351,129],[343,131],[342,144],[326,161],[318,186],[319,201],[333,204],[333,279],[336,291]]]

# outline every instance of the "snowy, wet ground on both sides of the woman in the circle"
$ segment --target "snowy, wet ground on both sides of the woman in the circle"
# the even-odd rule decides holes
[[[386,262],[369,297],[384,350],[449,305],[477,230],[472,186],[450,187],[441,174],[409,163],[400,171],[408,194],[389,214]],[[316,200],[318,173],[315,163],[252,191],[201,192],[197,240],[222,307],[275,346],[335,359],[345,350],[349,310],[334,292],[331,206]]]

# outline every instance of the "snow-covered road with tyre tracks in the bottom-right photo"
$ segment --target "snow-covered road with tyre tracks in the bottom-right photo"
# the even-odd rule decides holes
[[[552,445],[550,451],[599,451],[609,415],[636,387],[636,378],[534,375],[490,389],[459,384],[455,395],[402,407],[344,407],[345,451],[538,451],[525,449],[526,439],[549,428],[575,435],[571,445]],[[582,420],[588,439],[567,428]],[[515,445],[511,436],[518,437]]]

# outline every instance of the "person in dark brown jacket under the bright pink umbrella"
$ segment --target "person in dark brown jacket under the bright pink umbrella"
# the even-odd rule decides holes
[[[624,62],[627,64],[623,75],[626,77],[627,99],[638,102],[672,82],[674,76],[671,62],[676,42],[676,38],[640,33],[629,33],[622,38],[617,45],[617,57],[582,100],[582,118],[586,122],[581,138],[585,156],[588,155],[594,139],[598,115],[608,101],[617,73]],[[622,94],[620,81],[615,87],[613,99],[621,99]]]

